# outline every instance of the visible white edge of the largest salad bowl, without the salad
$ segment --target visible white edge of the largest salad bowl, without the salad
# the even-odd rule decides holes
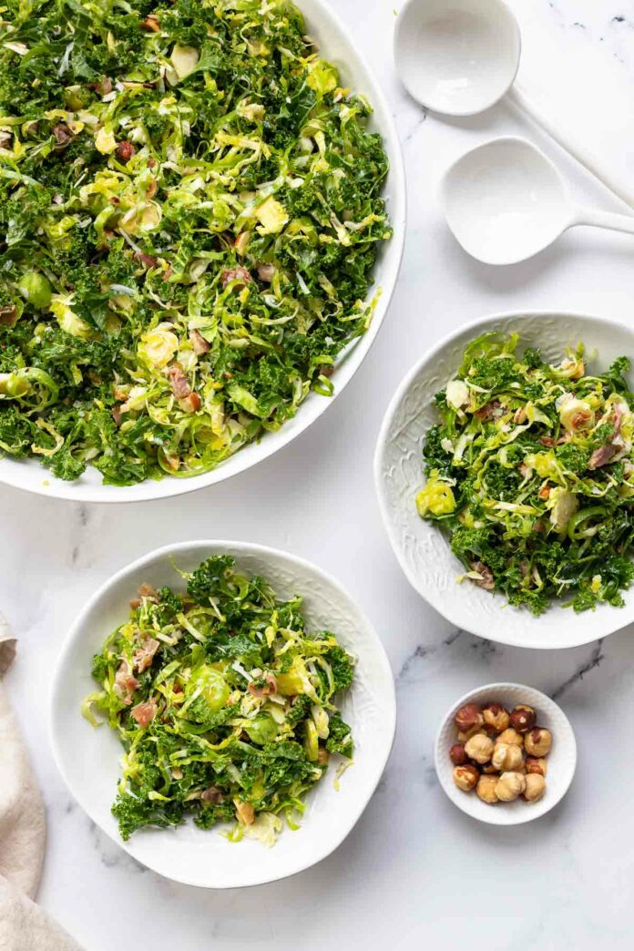
[[[390,173],[383,191],[388,204],[388,213],[394,229],[392,240],[381,249],[375,267],[375,286],[368,297],[382,289],[376,304],[372,324],[363,337],[353,340],[336,362],[333,397],[310,393],[298,409],[295,418],[289,419],[277,433],[266,433],[259,443],[245,446],[235,456],[225,459],[217,469],[202,476],[177,478],[165,476],[159,481],[149,479],[138,485],[103,485],[102,476],[88,467],[86,473],[74,482],[65,482],[52,476],[36,459],[18,460],[0,458],[0,484],[16,489],[25,489],[38,495],[66,498],[81,502],[139,502],[170,495],[183,495],[214,485],[225,478],[236,476],[273,456],[279,449],[308,429],[321,416],[355,376],[367,356],[381,327],[394,293],[396,278],[405,241],[405,172],[398,135],[392,111],[385,100],[381,87],[375,80],[365,58],[355,49],[350,30],[339,20],[336,13],[324,0],[298,0],[298,7],[306,19],[307,32],[317,40],[321,54],[339,68],[346,86],[363,93],[374,108],[372,128],[383,136],[384,146],[390,160]]]

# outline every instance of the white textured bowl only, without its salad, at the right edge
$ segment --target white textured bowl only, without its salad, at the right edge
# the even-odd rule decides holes
[[[583,341],[603,371],[613,359],[634,357],[634,329],[588,314],[531,311],[497,314],[462,326],[420,359],[398,387],[383,420],[375,452],[375,485],[385,527],[398,562],[417,592],[451,624],[490,641],[522,648],[572,648],[619,631],[634,621],[634,587],[624,592],[624,608],[600,605],[576,614],[551,607],[540,617],[511,608],[501,594],[456,583],[463,566],[448,538],[416,512],[414,496],[425,483],[423,445],[434,422],[434,393],[454,377],[465,346],[486,331],[517,331],[548,360],[565,356]],[[634,377],[629,375],[630,386]]]

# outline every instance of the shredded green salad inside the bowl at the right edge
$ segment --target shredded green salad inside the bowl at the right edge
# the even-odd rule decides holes
[[[441,422],[423,456],[418,513],[451,536],[468,579],[535,614],[624,603],[634,577],[634,394],[616,359],[586,370],[584,347],[557,365],[518,336],[465,350],[435,396]]]

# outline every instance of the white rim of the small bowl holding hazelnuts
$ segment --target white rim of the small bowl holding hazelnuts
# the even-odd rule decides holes
[[[509,689],[518,689],[528,694],[527,702],[530,703],[531,706],[534,705],[535,707],[538,707],[541,705],[542,708],[545,708],[546,711],[555,710],[557,712],[557,715],[561,716],[561,718],[564,721],[564,728],[565,730],[567,730],[567,736],[565,736],[563,739],[564,739],[564,743],[566,744],[570,752],[570,761],[572,765],[569,769],[569,775],[567,776],[567,778],[565,777],[565,782],[563,783],[561,788],[557,790],[557,792],[553,795],[552,799],[548,799],[548,800],[543,799],[541,800],[541,802],[538,802],[532,805],[527,804],[526,813],[524,811],[516,812],[516,813],[506,812],[505,817],[509,817],[509,818],[505,818],[504,822],[500,822],[499,818],[495,818],[496,816],[497,817],[500,816],[499,811],[496,811],[495,809],[490,809],[489,810],[490,818],[488,818],[489,813],[483,813],[483,815],[481,816],[480,815],[475,816],[466,807],[468,805],[467,797],[465,797],[465,801],[463,803],[463,801],[461,799],[458,799],[457,796],[454,798],[451,795],[451,791],[452,791],[451,786],[448,786],[445,783],[443,779],[443,773],[441,772],[441,769],[440,769],[441,756],[443,756],[443,753],[445,756],[447,755],[447,749],[446,747],[441,747],[441,743],[442,743],[442,734],[444,732],[444,729],[446,728],[447,724],[450,722],[451,716],[456,710],[458,710],[461,707],[464,707],[465,704],[470,703],[473,697],[478,696],[481,693],[484,693],[484,692],[495,693],[496,691],[500,692],[502,690],[509,690]],[[499,681],[494,684],[483,684],[482,687],[476,687],[471,690],[468,690],[467,693],[464,693],[461,697],[459,697],[456,701],[454,701],[454,703],[451,705],[450,708],[448,708],[447,712],[443,715],[443,717],[440,720],[440,725],[436,732],[435,740],[433,741],[433,765],[436,770],[438,784],[443,790],[443,792],[445,793],[445,795],[447,796],[447,798],[450,800],[450,802],[453,805],[456,806],[456,808],[464,812],[466,816],[469,816],[470,819],[473,819],[475,822],[486,823],[487,825],[499,825],[499,826],[526,825],[527,823],[533,822],[533,820],[535,819],[539,819],[542,816],[545,816],[548,812],[550,812],[551,809],[555,807],[555,805],[559,805],[559,803],[561,803],[564,796],[567,794],[567,791],[570,788],[572,780],[574,779],[575,771],[577,768],[577,739],[575,737],[574,729],[572,728],[572,724],[570,723],[567,717],[567,714],[559,706],[559,704],[555,700],[552,699],[552,697],[548,696],[548,693],[545,693],[543,690],[537,689],[536,687],[529,687],[528,684],[517,684],[510,681]],[[528,805],[530,805],[530,807],[528,807]]]

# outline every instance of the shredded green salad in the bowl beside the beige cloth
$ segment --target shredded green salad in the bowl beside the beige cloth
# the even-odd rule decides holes
[[[193,816],[273,844],[280,813],[297,828],[330,755],[351,761],[335,698],[353,657],[329,631],[306,631],[301,598],[279,601],[229,555],[183,577],[185,594],[143,585],[94,657],[100,689],[84,713],[95,726],[106,718],[125,748],[112,812],[124,839]]]

